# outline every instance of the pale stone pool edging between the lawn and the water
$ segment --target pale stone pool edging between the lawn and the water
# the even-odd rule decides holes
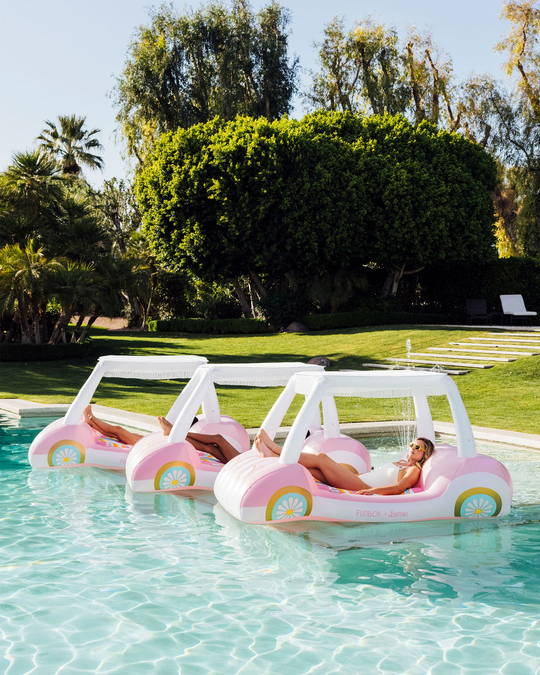
[[[68,404],[43,404],[25,401],[21,398],[0,399],[0,410],[17,417],[60,417],[70,406]],[[155,417],[138,412],[128,412],[120,408],[92,405],[94,413],[103,420],[129,427],[135,431],[158,431],[159,425]],[[404,423],[400,422],[348,422],[340,425],[342,433],[348,436],[369,437],[392,435],[396,433]],[[412,423],[411,423],[412,424]],[[450,422],[433,422],[437,436],[456,435],[454,425]],[[250,440],[253,440],[258,429],[248,429]],[[276,440],[286,437],[290,427],[280,427],[275,435]],[[504,429],[489,429],[488,427],[472,427],[472,433],[477,441],[490,441],[491,443],[504,443],[516,445],[521,448],[540,450],[540,435],[534,433],[522,433],[520,431],[505,431]]]

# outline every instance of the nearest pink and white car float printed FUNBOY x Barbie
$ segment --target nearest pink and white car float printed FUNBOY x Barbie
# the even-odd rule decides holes
[[[219,504],[238,520],[259,524],[294,520],[395,522],[487,518],[510,511],[512,480],[508,470],[497,460],[477,454],[458,388],[448,375],[412,371],[294,375],[263,422],[271,438],[296,394],[306,398],[281,456],[261,457],[252,450],[224,466],[215,481]],[[329,444],[338,437],[338,417],[330,403],[335,396],[412,397],[417,436],[435,443],[435,452],[425,462],[416,486],[400,495],[357,495],[315,481],[298,464],[300,452],[306,449],[306,430],[321,402],[323,413],[326,406],[329,414],[329,418],[324,416],[321,436]],[[448,398],[457,447],[435,442],[427,396]],[[369,458],[367,466],[371,466]]]

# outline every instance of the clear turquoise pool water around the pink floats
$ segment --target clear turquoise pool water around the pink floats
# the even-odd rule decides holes
[[[49,421],[0,418],[1,673],[540,673],[540,453],[479,444],[512,474],[504,518],[287,528],[32,470]]]

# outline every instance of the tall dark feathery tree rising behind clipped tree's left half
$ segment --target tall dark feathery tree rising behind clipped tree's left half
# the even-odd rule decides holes
[[[159,134],[219,115],[290,111],[298,59],[288,57],[289,14],[273,1],[254,14],[246,0],[176,14],[161,5],[136,30],[114,89],[128,154],[140,162]]]

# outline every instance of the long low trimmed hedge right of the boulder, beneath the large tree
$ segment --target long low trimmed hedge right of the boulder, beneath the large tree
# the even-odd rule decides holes
[[[326,331],[356,326],[387,326],[396,323],[448,323],[443,314],[420,314],[416,312],[383,312],[359,310],[335,314],[311,314],[300,319],[312,331]]]

